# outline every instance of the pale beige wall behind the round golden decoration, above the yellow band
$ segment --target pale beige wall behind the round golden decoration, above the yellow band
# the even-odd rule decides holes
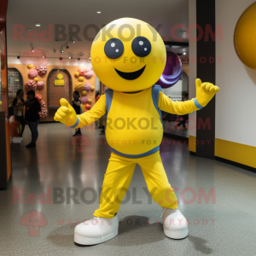
[[[253,2],[216,0],[216,24],[224,35],[223,41],[216,40],[216,56],[222,57],[216,62],[216,138],[256,147],[256,73],[247,73],[234,47],[236,23]]]

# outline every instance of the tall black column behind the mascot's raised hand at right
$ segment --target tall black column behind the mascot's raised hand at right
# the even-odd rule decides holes
[[[212,38],[211,33],[206,32],[207,26],[211,27],[213,33],[215,32],[215,0],[196,1],[196,23],[203,30],[202,38],[202,33],[197,30],[197,78],[202,82],[215,84],[215,37]],[[214,58],[214,61],[210,61],[210,57]],[[199,142],[196,145],[196,155],[214,159],[215,96],[207,107],[197,111],[196,121],[196,140]],[[202,123],[209,125],[203,128],[203,125],[200,127]]]

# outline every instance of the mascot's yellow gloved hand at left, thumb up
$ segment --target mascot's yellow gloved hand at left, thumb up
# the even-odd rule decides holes
[[[61,99],[60,103],[61,107],[55,113],[55,121],[59,121],[67,126],[77,126],[79,119],[77,118],[77,114],[73,107],[67,102],[66,99],[63,98]]]

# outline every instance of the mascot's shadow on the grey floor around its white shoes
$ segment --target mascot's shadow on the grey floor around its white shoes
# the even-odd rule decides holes
[[[165,236],[162,223],[158,219],[149,219],[143,216],[128,216],[119,221],[119,235],[106,241],[104,246],[138,246],[157,241],[169,240],[171,243],[193,243],[195,250],[210,254],[212,249],[207,247],[207,241],[200,237],[188,236],[183,240],[172,240]],[[152,224],[151,224],[152,223]],[[59,247],[74,247],[73,230],[75,225],[65,225],[57,228],[47,238]],[[76,246],[79,246],[76,244]],[[83,247],[83,246],[82,246]],[[87,246],[84,246],[87,247]],[[91,247],[91,246],[90,246]],[[94,247],[94,246],[93,246]]]

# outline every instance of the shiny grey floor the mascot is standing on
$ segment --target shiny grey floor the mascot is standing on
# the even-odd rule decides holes
[[[76,246],[75,223],[91,218],[98,207],[97,191],[110,151],[100,131],[82,130],[90,138],[84,153],[77,152],[72,144],[73,131],[64,125],[39,125],[39,132],[37,148],[24,148],[30,142],[26,127],[22,151],[13,153],[9,189],[0,191],[0,255],[256,255],[256,174],[191,156],[187,146],[173,143],[165,143],[160,152],[170,183],[178,189],[179,207],[189,218],[189,236],[173,241],[164,235],[161,224],[157,224],[161,209],[144,191],[146,183],[137,166],[129,189],[131,198],[119,210],[119,236],[92,247]],[[27,195],[39,196],[47,192],[47,187],[50,204],[27,203]],[[81,196],[88,187],[96,191],[96,200],[89,191]],[[14,203],[14,188],[24,190],[26,204]],[[54,195],[57,188],[64,192],[64,202],[59,204],[55,200],[61,198]],[[78,191],[76,203],[67,199],[69,188]],[[186,188],[194,191],[194,202],[191,192],[181,196]],[[198,202],[200,191],[206,195],[214,192],[216,203],[212,203],[212,197],[208,203],[204,199]],[[20,224],[20,218],[32,210],[44,213],[47,219],[38,236],[29,236],[28,227]],[[215,219],[213,224],[211,219]]]

